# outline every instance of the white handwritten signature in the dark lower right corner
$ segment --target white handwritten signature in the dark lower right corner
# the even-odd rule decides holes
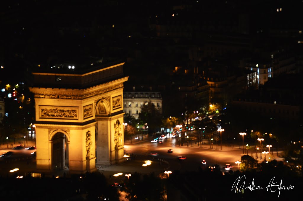
[[[271,192],[276,192],[278,190],[279,194],[278,197],[280,196],[281,190],[291,190],[293,188],[295,188],[295,186],[289,185],[289,186],[282,186],[282,179],[280,182],[280,185],[277,184],[277,182],[274,182],[275,177],[272,177],[270,182],[268,183],[268,186],[265,187],[265,189],[267,191],[271,191]],[[249,186],[245,186],[245,181],[246,181],[246,177],[245,175],[243,175],[241,178],[238,177],[235,182],[233,183],[231,190],[235,190],[235,193],[237,190],[241,191],[243,189],[248,189],[250,191],[253,190],[263,190],[263,186],[257,186],[255,185],[255,179],[252,179],[252,182],[249,183]],[[239,186],[240,185],[240,186]]]

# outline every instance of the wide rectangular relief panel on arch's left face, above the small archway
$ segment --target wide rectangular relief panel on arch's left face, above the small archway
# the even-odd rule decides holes
[[[78,119],[79,108],[39,105],[39,118]]]

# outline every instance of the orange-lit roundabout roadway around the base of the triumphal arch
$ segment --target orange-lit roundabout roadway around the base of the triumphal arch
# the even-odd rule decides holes
[[[34,144],[33,144],[34,145]],[[29,144],[31,146],[31,144]],[[124,178],[125,173],[142,173],[147,174],[155,172],[156,174],[163,173],[165,170],[171,171],[197,171],[199,167],[208,168],[210,165],[218,164],[222,168],[226,163],[234,166],[233,170],[237,170],[238,166],[235,164],[235,161],[240,160],[242,154],[242,149],[239,149],[235,145],[234,148],[222,145],[222,151],[220,151],[220,145],[217,146],[214,144],[213,149],[209,148],[209,145],[202,145],[202,148],[198,144],[191,143],[187,147],[187,143],[183,146],[179,146],[176,138],[164,139],[163,143],[152,143],[148,141],[133,141],[133,144],[125,144],[124,151],[125,153],[130,154],[132,160],[125,160],[124,163],[119,165],[104,165],[99,168],[99,171],[105,175],[107,179],[119,180]],[[168,153],[168,149],[173,149],[173,153]],[[19,168],[18,174],[24,175],[33,172],[39,172],[36,169],[36,161],[30,154],[32,150],[14,150],[2,148],[0,149],[1,153],[6,151],[15,152],[11,157],[6,159],[0,159],[0,175],[9,176],[12,173],[9,173],[9,170],[14,168]],[[157,153],[157,156],[152,156],[151,154]],[[249,154],[255,157],[255,152]],[[275,154],[274,154],[275,155]],[[178,160],[177,156],[186,156],[186,160]],[[275,157],[278,160],[281,158]],[[207,164],[202,165],[201,160],[206,160]],[[262,157],[262,159],[264,159]],[[142,166],[145,163],[145,160],[151,160],[151,165],[146,167]],[[260,157],[258,158],[260,162]],[[114,178],[115,173],[122,172],[123,175],[118,178]],[[68,169],[58,171],[56,173],[45,173],[45,176],[60,176],[63,174],[68,176]]]

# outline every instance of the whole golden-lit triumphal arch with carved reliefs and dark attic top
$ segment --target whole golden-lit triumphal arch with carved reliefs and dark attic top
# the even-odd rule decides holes
[[[84,173],[123,160],[123,64],[32,73],[37,169]]]

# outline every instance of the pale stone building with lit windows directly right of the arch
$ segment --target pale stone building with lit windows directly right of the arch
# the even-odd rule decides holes
[[[135,118],[138,118],[144,105],[148,104],[155,106],[158,115],[162,114],[163,103],[160,92],[123,92],[123,111],[125,114],[133,115]]]

